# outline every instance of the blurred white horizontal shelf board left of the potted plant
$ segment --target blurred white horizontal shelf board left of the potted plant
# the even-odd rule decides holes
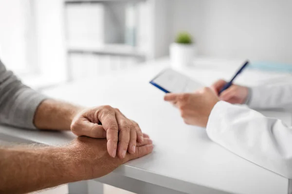
[[[99,55],[129,56],[145,58],[146,54],[138,49],[122,44],[92,46],[90,44],[70,44],[68,53],[91,53]]]

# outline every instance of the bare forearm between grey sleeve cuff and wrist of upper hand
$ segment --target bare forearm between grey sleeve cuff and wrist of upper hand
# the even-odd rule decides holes
[[[47,99],[38,106],[34,124],[37,129],[70,130],[73,117],[81,109],[70,103]]]

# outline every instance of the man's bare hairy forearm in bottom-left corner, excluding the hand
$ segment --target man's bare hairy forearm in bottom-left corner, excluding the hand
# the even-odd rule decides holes
[[[21,194],[81,180],[65,147],[0,148],[0,193]]]

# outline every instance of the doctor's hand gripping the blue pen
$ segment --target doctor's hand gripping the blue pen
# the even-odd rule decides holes
[[[213,91],[219,95],[219,91],[223,88],[223,86],[227,82],[224,80],[216,81],[211,88]],[[220,95],[220,100],[224,100],[226,102],[232,104],[243,104],[245,103],[248,97],[248,87],[240,86],[240,85],[232,85],[228,89],[224,90]]]

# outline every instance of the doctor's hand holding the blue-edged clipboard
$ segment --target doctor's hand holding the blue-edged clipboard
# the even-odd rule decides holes
[[[206,87],[195,93],[166,94],[164,100],[180,109],[186,124],[206,127],[209,115],[219,98]]]

